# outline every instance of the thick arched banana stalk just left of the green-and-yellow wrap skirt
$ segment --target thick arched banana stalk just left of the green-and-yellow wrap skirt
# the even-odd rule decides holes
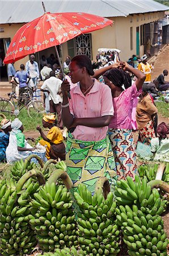
[[[52,174],[48,179],[48,183],[49,184],[52,184],[53,182],[56,183],[58,179],[61,179],[64,182],[67,189],[70,189],[73,187],[73,182],[71,181],[69,175],[65,171],[60,169],[57,169],[56,171],[52,172]]]

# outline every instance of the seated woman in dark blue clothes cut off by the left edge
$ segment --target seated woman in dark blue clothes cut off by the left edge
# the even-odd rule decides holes
[[[11,131],[11,121],[8,119],[2,119],[0,130],[0,162],[6,159],[5,151],[9,144],[9,131]]]

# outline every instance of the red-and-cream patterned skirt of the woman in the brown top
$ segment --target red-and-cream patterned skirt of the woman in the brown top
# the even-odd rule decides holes
[[[139,130],[139,141],[151,143],[151,139],[155,138],[155,131],[153,126],[153,121],[147,122],[146,126]]]

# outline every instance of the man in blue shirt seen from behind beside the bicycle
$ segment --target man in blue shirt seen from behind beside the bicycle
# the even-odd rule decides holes
[[[16,81],[15,79],[16,77],[18,77],[19,83]],[[24,70],[24,64],[20,65],[20,71],[16,72],[15,78],[14,78],[15,82],[19,84],[19,98],[18,98],[19,104],[18,105],[20,105],[20,103],[25,100],[24,93],[26,93],[27,84],[31,79],[31,77],[29,76],[29,73]],[[26,99],[26,100],[29,100],[29,99]]]

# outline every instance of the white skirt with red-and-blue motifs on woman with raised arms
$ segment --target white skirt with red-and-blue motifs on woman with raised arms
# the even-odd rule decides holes
[[[108,135],[115,156],[118,180],[125,179],[128,175],[134,180],[137,174],[137,156],[132,130],[109,128]]]

